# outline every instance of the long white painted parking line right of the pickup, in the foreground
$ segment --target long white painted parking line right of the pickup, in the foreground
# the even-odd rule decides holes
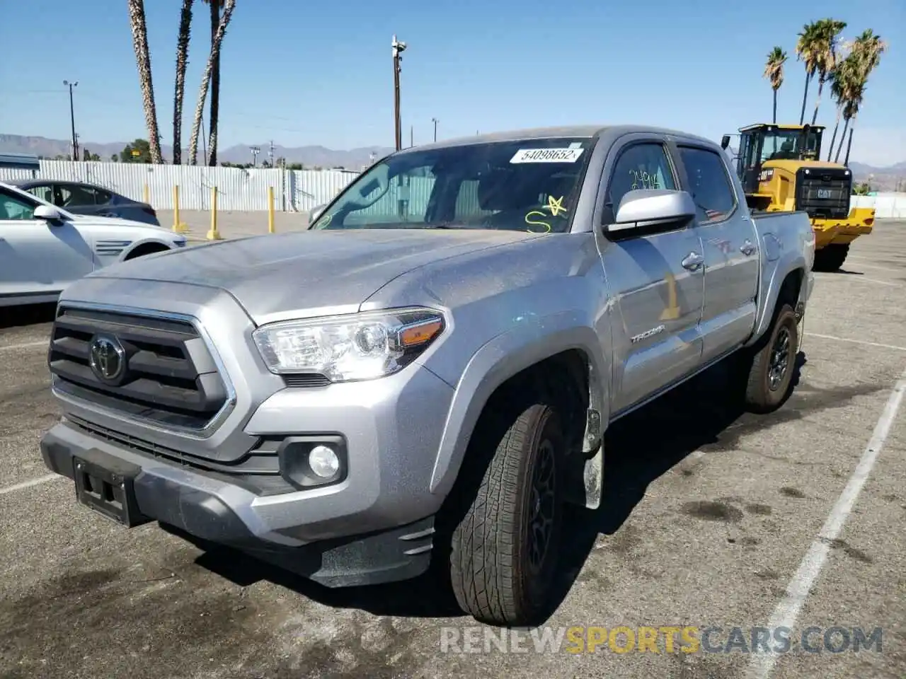
[[[849,482],[843,488],[843,493],[837,498],[834,509],[831,510],[827,521],[824,521],[821,531],[805,553],[805,558],[802,559],[802,563],[796,569],[793,579],[786,586],[786,596],[777,604],[774,615],[771,616],[771,620],[768,623],[770,629],[776,629],[777,627],[792,629],[795,626],[799,611],[805,604],[805,599],[808,598],[814,581],[818,579],[821,569],[824,568],[824,562],[827,560],[827,554],[831,550],[831,544],[840,535],[843,524],[849,517],[850,512],[853,511],[856,498],[859,497],[859,493],[862,491],[862,487],[878,459],[878,454],[881,453],[884,441],[887,439],[887,435],[890,434],[893,420],[900,409],[904,391],[906,391],[906,370],[903,370],[896,386],[893,387],[891,396],[887,399],[887,405],[884,406],[878,424],[874,426],[872,438],[869,440],[868,445],[865,446],[862,458],[859,460],[853,475],[850,476]],[[748,676],[751,679],[766,679],[771,674],[771,670],[774,669],[776,659],[777,655],[775,654],[753,655],[752,661],[748,666]]]

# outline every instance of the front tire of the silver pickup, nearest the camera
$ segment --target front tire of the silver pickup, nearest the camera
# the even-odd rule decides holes
[[[565,437],[541,403],[504,427],[499,442],[475,442],[496,450],[453,530],[450,579],[459,607],[479,622],[530,626],[545,612],[557,567]]]

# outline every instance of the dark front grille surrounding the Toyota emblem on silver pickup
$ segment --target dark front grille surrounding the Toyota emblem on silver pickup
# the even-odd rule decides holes
[[[122,351],[114,379],[92,368],[101,338]],[[61,307],[48,363],[65,393],[162,426],[204,429],[228,398],[205,340],[186,320]]]

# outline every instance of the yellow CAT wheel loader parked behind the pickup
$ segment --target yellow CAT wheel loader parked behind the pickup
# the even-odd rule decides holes
[[[757,123],[739,129],[736,168],[750,209],[803,211],[812,220],[814,270],[836,271],[850,244],[871,234],[874,209],[850,207],[853,173],[821,158],[821,125]],[[720,141],[729,145],[730,136]]]

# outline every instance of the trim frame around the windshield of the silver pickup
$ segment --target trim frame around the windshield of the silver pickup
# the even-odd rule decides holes
[[[363,170],[349,184],[347,184],[346,186],[343,186],[342,190],[336,196],[333,196],[333,199],[330,202],[326,203],[323,206],[323,208],[321,209],[320,215],[318,215],[318,218],[316,220],[314,220],[314,222],[311,225],[309,225],[308,228],[311,231],[332,230],[329,228],[330,221],[328,221],[327,224],[323,224],[324,217],[326,215],[330,215],[330,212],[331,212],[333,206],[335,206],[337,203],[339,203],[342,200],[343,196],[347,195],[347,193],[352,189],[352,186],[355,186],[363,178],[367,177],[373,169],[381,166],[382,163],[386,163],[388,160],[390,160],[390,158],[409,156],[410,154],[417,154],[421,151],[439,151],[439,150],[446,150],[446,149],[452,149],[452,148],[507,146],[507,145],[513,145],[513,144],[532,144],[532,143],[549,144],[549,143],[556,142],[561,139],[569,140],[570,142],[581,141],[583,143],[587,143],[587,145],[588,145],[587,147],[584,148],[583,158],[579,158],[579,160],[577,161],[579,163],[580,167],[579,167],[578,173],[576,174],[575,182],[573,183],[573,187],[570,192],[570,196],[573,196],[573,205],[575,205],[577,203],[578,197],[582,195],[583,188],[585,185],[585,179],[588,174],[588,169],[592,163],[593,153],[594,153],[595,149],[597,148],[598,143],[600,141],[600,133],[595,133],[590,136],[583,135],[583,134],[566,134],[566,133],[564,133],[564,134],[554,134],[554,135],[549,135],[549,136],[544,136],[544,137],[530,137],[530,138],[526,138],[526,139],[495,139],[495,140],[491,140],[491,141],[488,141],[487,139],[477,139],[474,142],[468,142],[468,143],[456,143],[456,144],[448,144],[448,145],[445,145],[442,143],[429,144],[429,145],[426,145],[425,148],[410,147],[410,148],[400,149],[398,151],[393,151],[392,153],[387,154],[383,158],[380,158],[379,160],[375,160],[374,163],[371,164],[371,166],[369,166],[365,170]],[[331,216],[333,216],[333,215],[331,215]],[[572,233],[573,222],[575,220],[575,216],[576,216],[576,211],[574,209],[570,210],[570,214],[566,218],[564,226],[555,231],[554,231],[554,229],[552,229],[551,231],[546,232],[546,234]],[[348,228],[349,230],[356,230],[355,227],[346,227],[346,228]],[[361,228],[364,228],[367,230],[369,228],[378,229],[380,227],[364,226]],[[385,227],[385,228],[387,228],[387,230],[391,230],[389,226]],[[408,227],[408,228],[411,228],[412,230],[416,230],[419,228],[425,229],[425,230],[432,230],[434,227],[431,225],[426,225],[426,226],[412,226],[412,227]],[[441,227],[441,228],[444,228],[444,227]],[[462,227],[462,228],[459,228],[456,230],[461,231],[461,230],[468,230],[468,229],[472,229],[475,231],[505,231],[505,230],[506,231],[509,231],[509,230],[521,231],[520,229],[493,229],[493,228],[489,228],[489,227],[483,228],[483,227],[477,227],[477,226],[467,226],[467,227]],[[333,230],[342,231],[343,229],[333,229]],[[525,229],[525,232],[530,233],[530,234],[531,233],[545,234],[545,232],[533,232],[533,231],[531,231],[531,229]]]

